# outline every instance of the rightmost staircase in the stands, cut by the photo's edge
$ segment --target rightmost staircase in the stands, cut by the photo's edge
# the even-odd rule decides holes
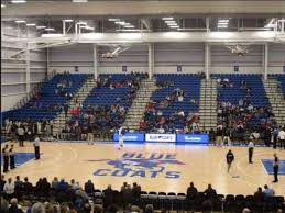
[[[277,81],[267,79],[263,83],[277,124],[285,125],[285,100],[282,91],[277,88]]]

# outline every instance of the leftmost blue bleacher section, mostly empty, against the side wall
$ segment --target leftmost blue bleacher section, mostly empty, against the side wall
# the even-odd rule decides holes
[[[57,74],[44,83],[39,90],[37,97],[32,98],[22,108],[11,111],[9,117],[17,121],[26,119],[32,121],[53,120],[62,111],[63,104],[69,100],[65,93],[76,93],[88,76],[87,74]],[[63,80],[69,85],[62,87]],[[59,94],[59,92],[62,93]]]

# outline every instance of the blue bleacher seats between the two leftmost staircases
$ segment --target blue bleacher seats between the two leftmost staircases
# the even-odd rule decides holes
[[[72,122],[78,121],[79,124],[87,125],[84,114],[87,114],[88,107],[103,109],[105,112],[111,111],[111,108],[123,107],[124,113],[131,107],[131,101],[127,99],[128,93],[136,93],[138,87],[128,85],[131,80],[142,80],[142,75],[132,74],[113,74],[100,75],[101,86],[95,87],[83,103],[81,116],[73,116]],[[108,82],[107,82],[108,81]],[[107,82],[107,83],[106,83]],[[110,86],[113,86],[112,88]],[[100,119],[96,119],[96,125],[100,125],[100,131],[106,132],[107,128],[113,128],[121,125],[124,121],[124,114],[113,112],[110,114],[110,121],[107,121],[106,114]]]

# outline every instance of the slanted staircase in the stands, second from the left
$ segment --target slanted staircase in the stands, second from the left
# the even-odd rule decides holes
[[[128,126],[130,130],[139,131],[145,107],[150,102],[151,96],[155,90],[155,79],[142,80],[140,89],[136,92],[136,98],[133,100],[131,108],[127,112],[123,123],[124,127]]]

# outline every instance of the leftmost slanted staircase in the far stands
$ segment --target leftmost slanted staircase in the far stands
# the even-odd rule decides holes
[[[62,130],[65,127],[65,124],[67,121],[72,119],[70,110],[76,107],[76,99],[77,103],[81,103],[85,101],[85,99],[88,97],[92,88],[96,86],[96,80],[90,77],[87,79],[87,81],[83,85],[83,87],[74,94],[73,99],[69,102],[69,109],[67,116],[65,117],[65,112],[62,111],[62,113],[53,120],[53,134],[59,135]]]

